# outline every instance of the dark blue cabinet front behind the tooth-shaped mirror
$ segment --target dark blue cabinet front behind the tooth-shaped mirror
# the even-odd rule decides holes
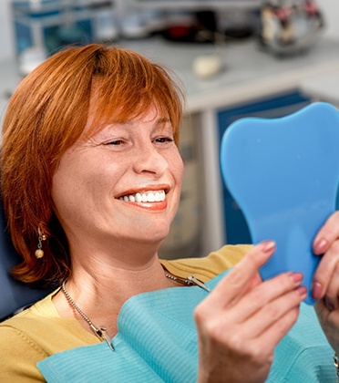
[[[298,91],[293,91],[275,98],[260,99],[237,108],[223,109],[218,113],[220,141],[225,130],[236,119],[244,117],[278,118],[291,114],[310,102],[310,98],[304,97]],[[223,202],[226,243],[251,243],[249,229],[241,209],[224,186]]]

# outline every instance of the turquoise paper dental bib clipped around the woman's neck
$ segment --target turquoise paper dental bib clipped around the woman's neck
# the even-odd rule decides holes
[[[224,274],[206,285],[212,290]],[[194,383],[198,344],[193,310],[207,294],[200,287],[175,287],[133,296],[120,310],[114,352],[102,342],[47,357],[37,367],[49,383]],[[267,382],[335,379],[332,348],[313,307],[302,305],[297,323],[275,350]]]

